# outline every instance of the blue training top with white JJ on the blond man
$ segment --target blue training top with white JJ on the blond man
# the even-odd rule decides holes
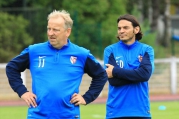
[[[80,119],[79,106],[70,103],[84,73],[92,77],[89,90],[83,95],[86,103],[95,100],[107,81],[106,71],[89,50],[68,40],[61,49],[49,42],[30,45],[6,66],[11,87],[21,97],[27,92],[20,72],[30,69],[32,92],[37,107],[29,108],[27,119]]]

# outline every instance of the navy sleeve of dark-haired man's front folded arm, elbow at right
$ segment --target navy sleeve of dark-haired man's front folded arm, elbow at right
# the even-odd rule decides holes
[[[145,52],[142,61],[137,69],[123,69],[114,67],[113,76],[119,80],[132,82],[148,81],[154,69],[154,55]]]

